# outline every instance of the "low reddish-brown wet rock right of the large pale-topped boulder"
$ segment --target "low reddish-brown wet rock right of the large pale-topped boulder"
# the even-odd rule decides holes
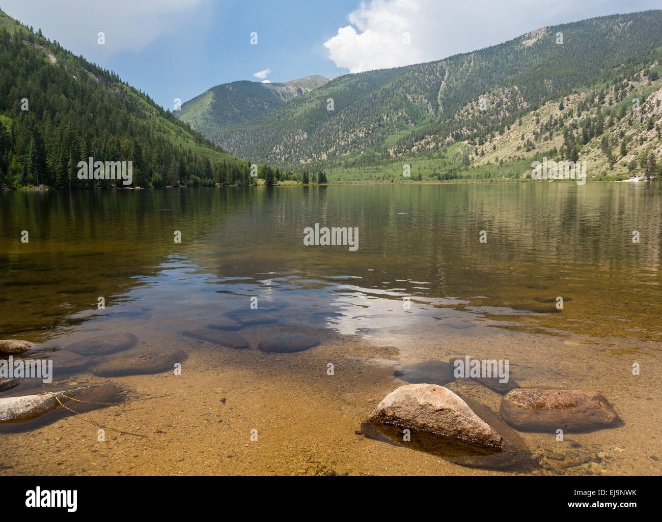
[[[523,431],[591,431],[621,423],[606,398],[585,390],[517,388],[504,396],[500,411]]]

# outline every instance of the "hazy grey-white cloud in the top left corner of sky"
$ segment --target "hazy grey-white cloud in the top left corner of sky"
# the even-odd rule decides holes
[[[24,24],[41,28],[75,54],[140,51],[163,34],[199,17],[210,0],[3,0],[2,9]],[[105,45],[97,33],[105,33]]]

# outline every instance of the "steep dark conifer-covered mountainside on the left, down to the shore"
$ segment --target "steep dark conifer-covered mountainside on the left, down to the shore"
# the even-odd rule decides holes
[[[89,157],[132,161],[134,187],[252,183],[246,161],[0,11],[0,187],[111,187],[77,179]]]

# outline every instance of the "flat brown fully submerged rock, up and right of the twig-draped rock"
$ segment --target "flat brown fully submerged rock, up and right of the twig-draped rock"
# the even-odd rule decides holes
[[[187,359],[184,351],[173,348],[160,351],[131,350],[97,365],[92,373],[101,377],[144,375],[174,370],[175,363]]]

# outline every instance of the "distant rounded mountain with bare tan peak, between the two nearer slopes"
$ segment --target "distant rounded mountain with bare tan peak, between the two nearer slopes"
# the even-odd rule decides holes
[[[286,83],[248,80],[223,83],[187,101],[175,115],[191,128],[211,136],[217,126],[244,124],[325,83],[328,79],[319,75]]]

